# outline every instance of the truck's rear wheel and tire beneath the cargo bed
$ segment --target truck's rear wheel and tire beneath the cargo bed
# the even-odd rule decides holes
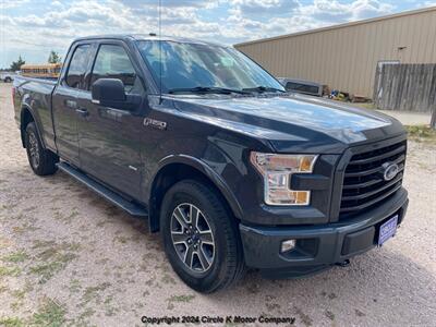
[[[43,147],[35,122],[27,124],[24,137],[32,170],[38,175],[53,174],[58,170],[56,164],[59,161],[59,157]]]

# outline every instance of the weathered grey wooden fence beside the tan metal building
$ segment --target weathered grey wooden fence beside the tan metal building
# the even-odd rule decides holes
[[[374,102],[385,110],[433,111],[436,106],[436,64],[377,66]]]

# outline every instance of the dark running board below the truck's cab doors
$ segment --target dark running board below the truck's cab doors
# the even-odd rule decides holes
[[[75,180],[82,182],[90,190],[96,192],[98,195],[105,197],[107,201],[111,202],[116,206],[119,206],[123,210],[128,211],[132,216],[148,217],[148,211],[140,205],[136,205],[124,197],[118,195],[116,192],[109,190],[108,187],[96,182],[85,173],[75,169],[66,162],[57,164],[58,168],[69,175],[73,177]]]

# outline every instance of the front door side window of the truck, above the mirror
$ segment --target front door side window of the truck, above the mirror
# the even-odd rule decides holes
[[[132,62],[121,46],[100,46],[94,63],[90,85],[98,78],[121,80],[128,94],[140,94],[143,89]]]

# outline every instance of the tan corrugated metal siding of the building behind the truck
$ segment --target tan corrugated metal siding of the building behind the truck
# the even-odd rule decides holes
[[[372,97],[378,61],[436,63],[436,8],[235,47],[276,76]]]

